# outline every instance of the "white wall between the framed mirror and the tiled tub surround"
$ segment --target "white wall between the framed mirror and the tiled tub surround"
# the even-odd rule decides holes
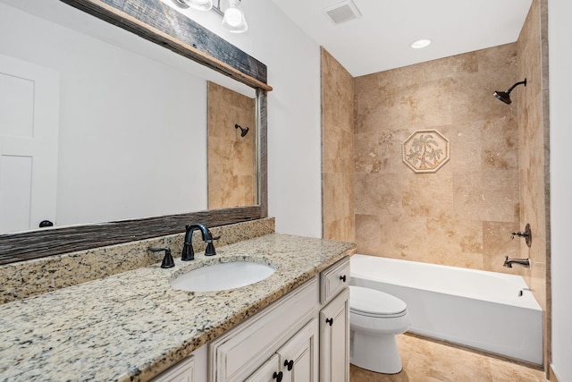
[[[320,48],[272,2],[242,2],[248,31],[223,30],[214,12],[194,20],[268,66],[268,202],[276,231],[322,236]]]

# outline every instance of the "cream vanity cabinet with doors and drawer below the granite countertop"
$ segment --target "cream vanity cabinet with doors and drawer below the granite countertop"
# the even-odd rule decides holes
[[[348,285],[344,258],[193,352],[196,380],[349,382]]]

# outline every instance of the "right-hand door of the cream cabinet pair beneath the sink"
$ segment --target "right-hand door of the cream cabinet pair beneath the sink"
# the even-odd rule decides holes
[[[283,382],[317,382],[318,323],[314,318],[277,352]]]

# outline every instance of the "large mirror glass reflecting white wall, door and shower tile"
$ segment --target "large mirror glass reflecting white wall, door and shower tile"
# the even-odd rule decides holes
[[[23,234],[13,231],[44,220],[145,225],[208,208],[225,208],[201,215],[213,222],[265,216],[264,89],[59,0],[0,0],[0,33],[10,36],[0,40],[0,256],[2,241]],[[61,233],[48,231],[44,240]]]

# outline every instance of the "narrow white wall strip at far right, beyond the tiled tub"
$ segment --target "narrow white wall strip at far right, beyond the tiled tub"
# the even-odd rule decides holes
[[[560,382],[572,381],[572,3],[548,2],[551,116],[551,282],[552,369]]]

